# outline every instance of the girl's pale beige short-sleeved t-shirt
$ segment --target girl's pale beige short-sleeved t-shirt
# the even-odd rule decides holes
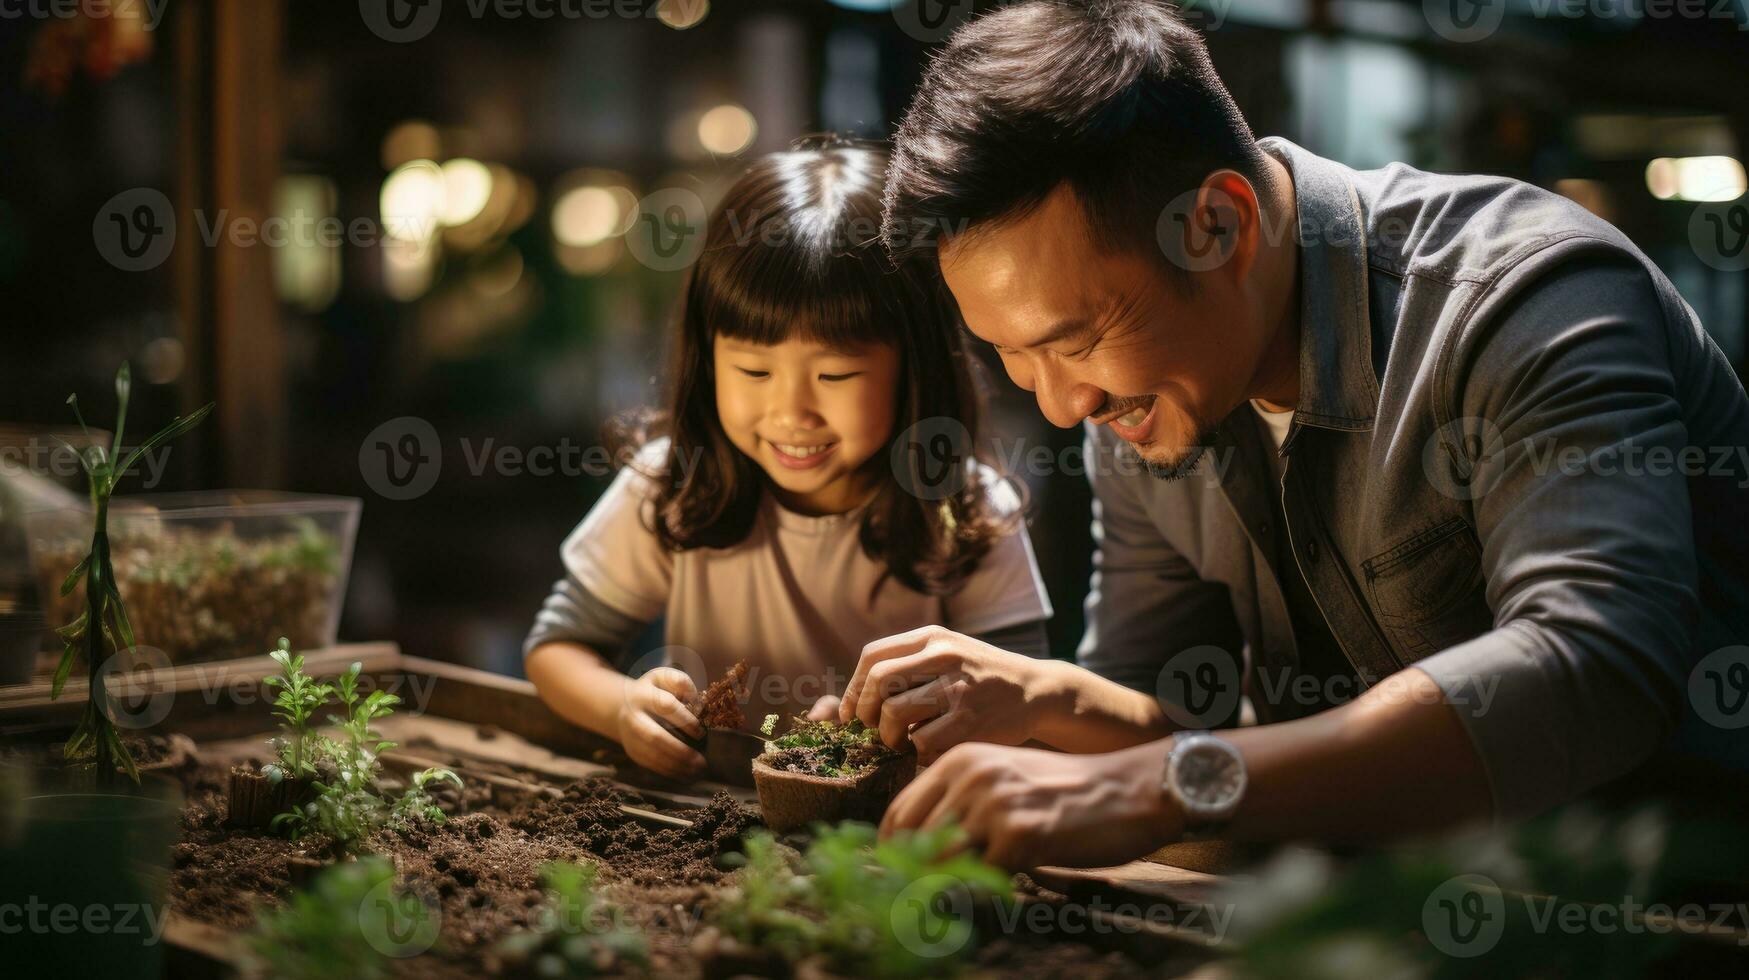
[[[883,565],[862,551],[862,508],[808,516],[764,494],[740,544],[668,551],[651,530],[656,481],[640,472],[656,471],[665,453],[666,443],[656,441],[614,478],[565,539],[565,567],[628,618],[649,623],[665,616],[666,642],[696,653],[708,679],[745,660],[752,726],[764,712],[798,714],[820,695],[841,691],[869,640],[934,623],[988,634],[1051,618],[1023,527],[997,539],[950,597],[923,595],[888,578],[871,602]],[[990,485],[997,513],[1020,508],[1007,483]],[[770,676],[784,681],[764,681],[771,691],[763,693],[761,677]]]

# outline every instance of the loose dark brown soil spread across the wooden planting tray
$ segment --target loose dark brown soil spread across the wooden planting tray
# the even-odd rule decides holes
[[[175,772],[187,803],[170,901],[180,915],[241,931],[252,926],[257,908],[283,903],[313,870],[345,858],[318,835],[294,844],[261,830],[227,828],[227,770],[196,763]],[[621,805],[665,805],[605,779],[575,782],[560,796],[498,791],[497,798],[476,780],[465,791],[446,788],[437,800],[451,814],[446,822],[381,831],[366,847],[394,861],[401,887],[441,908],[439,945],[394,961],[397,976],[488,975],[493,947],[535,920],[544,903],[540,864],[547,861],[593,861],[600,868],[602,896],[624,910],[649,942],[651,976],[701,976],[693,948],[700,917],[733,873],[724,856],[740,850],[742,835],[759,824],[756,808],[719,793],[705,807],[666,810],[693,821],[691,828],[647,826]],[[979,945],[971,966],[974,973],[1076,980],[1142,970],[1121,954],[1037,936],[997,936]]]

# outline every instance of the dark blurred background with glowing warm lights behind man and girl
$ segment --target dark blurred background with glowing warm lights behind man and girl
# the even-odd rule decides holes
[[[133,439],[217,410],[124,494],[359,497],[341,639],[519,672],[558,544],[607,483],[586,448],[659,397],[684,275],[659,226],[798,135],[890,135],[930,49],[986,7],[7,0],[0,432],[38,444],[73,424],[70,392],[108,425],[126,359]],[[1565,194],[1649,252],[1742,371],[1746,0],[1186,12],[1258,135]],[[990,376],[1000,439],[1079,444]],[[397,460],[427,462],[406,483]],[[1084,483],[1035,481],[1032,520],[1069,656]],[[12,551],[0,588],[23,609]]]

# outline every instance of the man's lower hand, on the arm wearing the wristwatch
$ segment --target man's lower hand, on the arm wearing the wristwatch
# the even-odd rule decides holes
[[[880,831],[957,821],[965,845],[1002,868],[1105,868],[1179,838],[1165,768],[1165,742],[1091,756],[958,746],[899,793]]]

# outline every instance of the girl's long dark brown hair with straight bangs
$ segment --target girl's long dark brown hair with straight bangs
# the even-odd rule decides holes
[[[686,280],[668,410],[647,416],[640,432],[645,441],[670,438],[666,458],[651,472],[659,485],[652,530],[666,548],[745,541],[766,494],[763,471],[717,418],[717,334],[757,345],[796,336],[836,348],[883,343],[899,352],[892,438],[864,464],[878,474],[878,490],[862,518],[862,551],[887,574],[916,592],[951,593],[1006,530],[1009,522],[988,506],[986,483],[972,478],[978,396],[958,308],[932,262],[895,264],[881,248],[885,168],[880,149],[815,136],[759,158],[710,214]],[[971,434],[957,462],[967,478],[944,499],[906,490],[923,486],[915,453],[899,453],[908,469],[894,471],[894,441],[923,420],[937,420],[923,429],[957,422]],[[939,474],[932,485],[943,485]]]

